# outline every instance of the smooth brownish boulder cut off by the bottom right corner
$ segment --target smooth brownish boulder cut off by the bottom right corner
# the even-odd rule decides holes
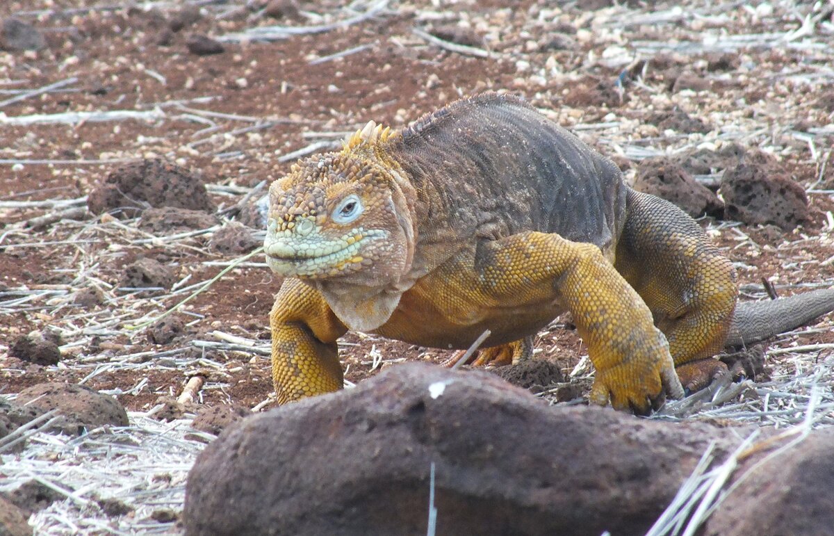
[[[736,471],[735,480],[751,465]],[[832,494],[834,428],[825,428],[750,473],[726,496],[701,533],[826,536],[834,527]]]

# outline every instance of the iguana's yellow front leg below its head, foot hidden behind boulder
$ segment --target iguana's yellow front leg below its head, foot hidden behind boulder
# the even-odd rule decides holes
[[[348,328],[319,291],[297,279],[284,280],[269,313],[269,326],[279,404],[342,387],[336,339]]]

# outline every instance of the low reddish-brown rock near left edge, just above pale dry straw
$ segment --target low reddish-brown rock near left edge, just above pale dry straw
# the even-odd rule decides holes
[[[32,420],[33,413],[38,417],[58,409],[58,416],[63,418],[54,423],[50,430],[68,435],[80,435],[85,429],[91,430],[106,424],[128,426],[128,414],[115,398],[82,385],[38,383],[21,391],[15,404],[17,407],[9,412],[8,417],[13,421],[18,418],[18,424]]]

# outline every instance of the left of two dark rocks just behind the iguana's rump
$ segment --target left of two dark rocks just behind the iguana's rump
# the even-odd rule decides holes
[[[686,214],[721,215],[721,200],[671,159],[645,159],[637,167],[633,188],[671,201]]]

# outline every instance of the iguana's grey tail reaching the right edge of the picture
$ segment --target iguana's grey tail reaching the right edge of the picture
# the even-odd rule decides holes
[[[724,346],[742,346],[804,326],[834,311],[834,288],[736,305]]]

